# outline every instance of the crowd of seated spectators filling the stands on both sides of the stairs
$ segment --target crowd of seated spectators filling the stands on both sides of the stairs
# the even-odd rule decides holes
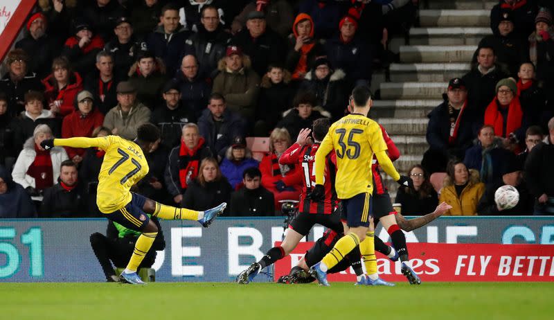
[[[97,217],[104,152],[52,137],[161,140],[137,193],[224,215],[279,215],[302,168],[278,162],[317,118],[337,120],[355,85],[397,57],[417,0],[39,0],[0,80],[0,217]],[[554,214],[554,28],[551,1],[501,0],[472,70],[429,114],[421,165],[400,189],[404,215]],[[253,154],[247,137],[268,137]],[[368,168],[369,170],[369,168]],[[10,174],[11,172],[11,174]],[[446,172],[434,188],[432,174]],[[502,210],[494,191],[519,190]],[[440,188],[440,187],[443,188]]]

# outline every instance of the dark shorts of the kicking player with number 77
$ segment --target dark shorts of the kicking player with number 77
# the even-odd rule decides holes
[[[148,222],[150,222],[150,217],[143,211],[146,198],[136,193],[131,194],[131,202],[118,211],[107,213],[106,217],[113,222],[125,226],[125,228],[142,232],[145,226],[148,225]]]

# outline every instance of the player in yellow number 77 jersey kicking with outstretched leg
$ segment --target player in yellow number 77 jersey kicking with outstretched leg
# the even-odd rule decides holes
[[[155,125],[145,123],[139,127],[134,141],[119,136],[100,138],[48,139],[42,141],[42,148],[48,150],[54,146],[73,148],[96,147],[105,150],[104,161],[98,174],[98,193],[96,204],[109,220],[128,229],[141,232],[136,240],[129,264],[120,274],[120,281],[134,285],[144,284],[136,274],[158,234],[158,228],[146,213],[167,220],[196,220],[204,227],[210,226],[217,215],[226,207],[222,203],[206,211],[193,211],[160,204],[129,190],[148,173],[148,163],[144,151],[150,151],[152,145],[160,139]]]

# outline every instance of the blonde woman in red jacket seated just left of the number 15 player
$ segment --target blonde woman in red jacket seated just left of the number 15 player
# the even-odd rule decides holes
[[[279,200],[299,199],[303,175],[298,166],[279,164],[281,154],[292,145],[289,132],[276,128],[269,140],[269,153],[260,162],[262,186],[274,194],[275,208],[280,208]]]

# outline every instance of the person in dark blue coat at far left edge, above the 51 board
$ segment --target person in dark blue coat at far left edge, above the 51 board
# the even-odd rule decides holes
[[[35,205],[25,189],[12,180],[8,170],[0,166],[0,219],[36,215]]]

